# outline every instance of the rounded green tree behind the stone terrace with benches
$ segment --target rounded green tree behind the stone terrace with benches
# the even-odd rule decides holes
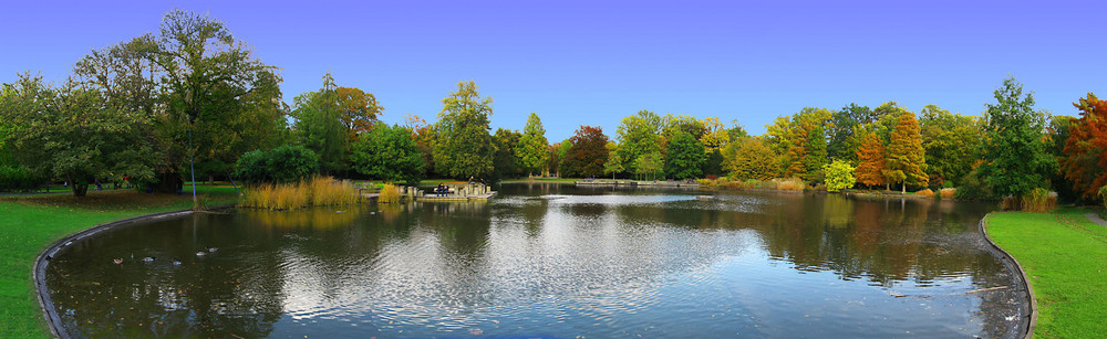
[[[377,123],[361,134],[353,145],[353,168],[359,173],[385,182],[405,182],[416,186],[423,180],[423,157],[412,131],[400,126],[389,127]]]

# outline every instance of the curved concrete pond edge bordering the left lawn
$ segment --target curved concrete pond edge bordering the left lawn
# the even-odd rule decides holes
[[[235,205],[220,205],[211,208],[210,210],[221,210],[234,206]],[[35,296],[38,297],[39,300],[39,307],[42,308],[42,316],[46,320],[46,327],[50,328],[50,333],[53,335],[54,338],[63,338],[63,339],[71,338],[69,336],[69,332],[65,331],[65,328],[61,324],[61,317],[58,316],[58,310],[54,309],[53,299],[50,298],[50,290],[46,288],[46,279],[45,279],[46,267],[50,265],[50,261],[53,259],[54,256],[68,250],[70,245],[72,245],[77,241],[82,241],[104,232],[111,232],[115,230],[144,225],[149,222],[158,220],[192,215],[194,213],[195,211],[193,210],[180,210],[180,211],[154,213],[135,218],[128,218],[124,220],[117,220],[105,224],[99,224],[85,229],[81,232],[70,234],[54,242],[50,246],[46,246],[46,248],[43,250],[42,253],[39,253],[39,256],[34,258],[34,265],[31,267],[31,279],[34,280]]]

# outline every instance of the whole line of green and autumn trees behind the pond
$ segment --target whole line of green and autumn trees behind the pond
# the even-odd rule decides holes
[[[493,100],[473,82],[443,98],[436,120],[379,120],[372,93],[339,85],[283,104],[278,68],[219,21],[174,11],[159,31],[93,51],[58,86],[20,74],[0,89],[0,188],[126,181],[179,191],[186,177],[288,182],[315,174],[417,183],[527,176],[734,181],[796,178],[828,190],[958,188],[1000,199],[1052,189],[1094,200],[1107,184],[1104,100],[1049,116],[1005,80],[980,116],[934,105],[911,112],[807,107],[751,136],[715,117],[641,110],[609,137],[580,126],[550,142],[531,113],[523,131],[489,127]]]

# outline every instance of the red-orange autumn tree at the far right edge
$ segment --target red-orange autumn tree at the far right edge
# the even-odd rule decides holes
[[[1107,100],[1088,93],[1073,106],[1080,110],[1080,118],[1069,126],[1061,165],[1074,189],[1095,199],[1099,188],[1107,186]]]

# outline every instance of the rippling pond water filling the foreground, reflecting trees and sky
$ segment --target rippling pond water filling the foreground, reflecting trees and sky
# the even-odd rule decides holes
[[[74,243],[46,283],[92,338],[1015,337],[1025,307],[987,204],[499,190],[153,222]]]

